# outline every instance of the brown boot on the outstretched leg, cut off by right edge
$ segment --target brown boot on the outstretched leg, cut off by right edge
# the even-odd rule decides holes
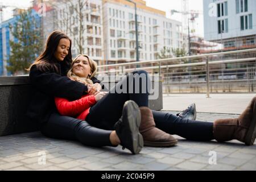
[[[217,119],[213,123],[213,136],[218,142],[240,140],[253,145],[256,137],[256,97],[236,119]]]

